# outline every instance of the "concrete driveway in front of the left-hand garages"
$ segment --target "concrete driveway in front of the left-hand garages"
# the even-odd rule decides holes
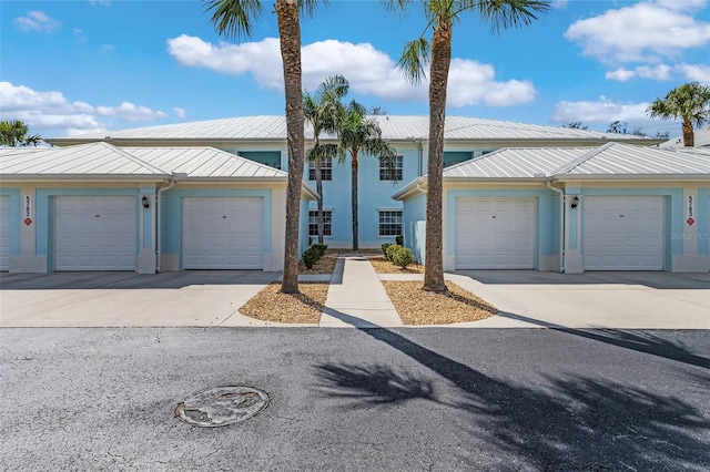
[[[268,326],[237,309],[280,273],[1,274],[2,327]]]

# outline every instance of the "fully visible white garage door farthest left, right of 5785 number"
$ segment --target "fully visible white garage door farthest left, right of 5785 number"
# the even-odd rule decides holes
[[[55,270],[135,270],[136,199],[54,198]]]

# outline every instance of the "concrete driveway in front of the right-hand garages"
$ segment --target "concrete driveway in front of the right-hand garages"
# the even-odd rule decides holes
[[[708,273],[462,270],[447,278],[501,310],[477,327],[710,329]]]

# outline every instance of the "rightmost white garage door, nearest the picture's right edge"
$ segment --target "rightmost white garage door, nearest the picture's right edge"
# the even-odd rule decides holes
[[[662,270],[663,219],[663,197],[585,197],[585,270]]]

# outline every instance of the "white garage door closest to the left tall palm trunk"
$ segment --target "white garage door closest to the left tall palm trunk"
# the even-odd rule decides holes
[[[183,199],[185,269],[261,269],[264,266],[264,199]]]

